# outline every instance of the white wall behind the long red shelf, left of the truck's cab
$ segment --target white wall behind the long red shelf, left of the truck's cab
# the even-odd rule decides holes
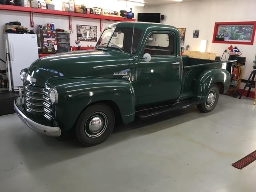
[[[55,9],[61,10],[62,4],[60,0],[53,0],[55,3]],[[98,6],[101,8],[109,9],[109,10],[130,10],[133,9],[133,12],[136,11],[134,5],[130,3],[126,3],[125,1],[119,0],[76,0],[76,4],[85,4],[88,7]],[[136,14],[137,15],[137,14]],[[28,12],[12,12],[12,11],[4,11],[0,10],[0,58],[5,60],[5,49],[4,49],[4,40],[3,40],[3,31],[4,24],[11,21],[19,21],[22,26],[27,27],[29,30],[33,30],[30,28],[30,19]],[[67,16],[56,16],[56,15],[48,15],[48,14],[37,14],[34,13],[34,31],[36,31],[36,25],[54,22],[55,28],[62,28],[64,30],[68,30],[68,17]],[[114,23],[114,21],[103,20],[103,29]],[[77,46],[75,44],[76,40],[76,25],[92,25],[98,27],[97,38],[100,37],[100,20],[98,19],[88,19],[88,18],[78,18],[72,17],[72,29],[74,30],[73,34],[70,34],[70,45]],[[68,30],[69,31],[69,30]],[[81,46],[92,45],[95,46],[96,42],[80,42]],[[24,45],[25,47],[26,45]],[[5,70],[6,66],[3,62],[0,61],[0,70]]]

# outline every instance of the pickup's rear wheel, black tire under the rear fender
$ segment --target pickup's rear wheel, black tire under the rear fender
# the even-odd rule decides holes
[[[209,99],[209,101],[212,101],[212,102],[208,102],[208,99],[207,99],[206,102],[197,105],[197,108],[201,112],[207,113],[207,112],[212,111],[216,107],[218,100],[219,100],[219,96],[220,96],[220,91],[219,91],[219,88],[217,85],[214,85],[210,88],[210,90],[207,94],[207,97],[210,94],[214,94],[214,100],[212,101]]]

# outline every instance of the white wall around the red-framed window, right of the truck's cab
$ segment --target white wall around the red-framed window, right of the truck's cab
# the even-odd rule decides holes
[[[138,11],[160,12],[165,15],[162,23],[177,28],[186,28],[185,48],[189,45],[190,50],[199,51],[200,40],[207,39],[206,51],[216,52],[217,56],[222,56],[223,51],[230,44],[212,43],[215,22],[256,21],[255,8],[256,0],[198,0],[162,6],[146,6]],[[193,38],[194,29],[200,30],[199,38]],[[238,46],[242,56],[246,57],[243,78],[247,79],[252,71],[256,54],[256,40],[254,40],[254,45],[232,45]]]

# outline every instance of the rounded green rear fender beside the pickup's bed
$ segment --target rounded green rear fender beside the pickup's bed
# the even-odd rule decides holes
[[[194,95],[197,96],[200,102],[206,102],[210,88],[219,82],[223,84],[224,93],[226,93],[230,86],[230,74],[227,70],[221,68],[205,70],[196,81]]]

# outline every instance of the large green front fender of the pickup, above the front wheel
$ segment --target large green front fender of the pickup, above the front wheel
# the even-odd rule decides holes
[[[54,105],[55,116],[64,131],[72,128],[86,106],[99,101],[116,103],[124,123],[134,120],[135,93],[129,81],[76,78],[55,80],[49,86],[55,87],[58,92],[58,104]]]

